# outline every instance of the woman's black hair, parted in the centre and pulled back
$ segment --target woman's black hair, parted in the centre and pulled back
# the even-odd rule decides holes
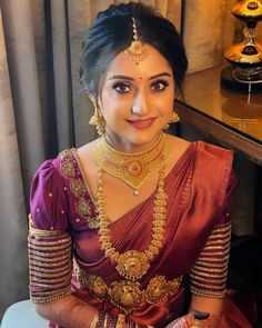
[[[153,8],[141,2],[129,2],[111,4],[100,11],[83,36],[80,80],[88,93],[98,95],[102,73],[111,60],[131,44],[132,18],[135,19],[139,39],[154,47],[167,59],[173,70],[175,85],[181,90],[188,60],[175,27]]]

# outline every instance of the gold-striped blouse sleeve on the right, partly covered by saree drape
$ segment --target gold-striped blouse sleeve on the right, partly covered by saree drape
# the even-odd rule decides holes
[[[231,239],[231,193],[234,186],[232,173],[218,223],[190,271],[191,292],[194,295],[211,298],[224,296]]]

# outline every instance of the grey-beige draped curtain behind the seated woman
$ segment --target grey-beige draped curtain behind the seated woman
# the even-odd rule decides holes
[[[0,317],[9,305],[28,298],[27,215],[36,170],[62,149],[95,137],[88,123],[92,107],[79,83],[81,40],[97,12],[113,2],[128,1],[0,0]],[[221,1],[208,1],[201,11],[205,0],[142,2],[183,29],[192,70],[216,63],[221,44],[231,41],[222,38],[226,34],[222,30],[233,33],[223,16],[231,1],[222,1],[222,7],[215,7]],[[212,22],[209,10],[214,13]],[[203,62],[198,62],[199,47],[190,26],[199,26],[196,36],[202,40],[206,37],[200,28],[203,19],[218,28],[206,50],[215,56],[212,60],[203,56]],[[209,42],[202,46],[204,53]]]

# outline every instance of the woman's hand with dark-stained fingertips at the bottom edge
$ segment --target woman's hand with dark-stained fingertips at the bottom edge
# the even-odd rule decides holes
[[[192,311],[170,322],[165,328],[209,328],[209,314]]]

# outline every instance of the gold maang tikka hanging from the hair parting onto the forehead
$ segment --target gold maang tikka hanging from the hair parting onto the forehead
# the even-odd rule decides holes
[[[139,61],[143,60],[148,53],[145,50],[144,44],[139,40],[139,33],[138,28],[135,23],[135,19],[132,17],[133,21],[133,41],[131,46],[124,50],[124,56],[127,56],[129,59],[133,60],[135,64],[139,63]]]

